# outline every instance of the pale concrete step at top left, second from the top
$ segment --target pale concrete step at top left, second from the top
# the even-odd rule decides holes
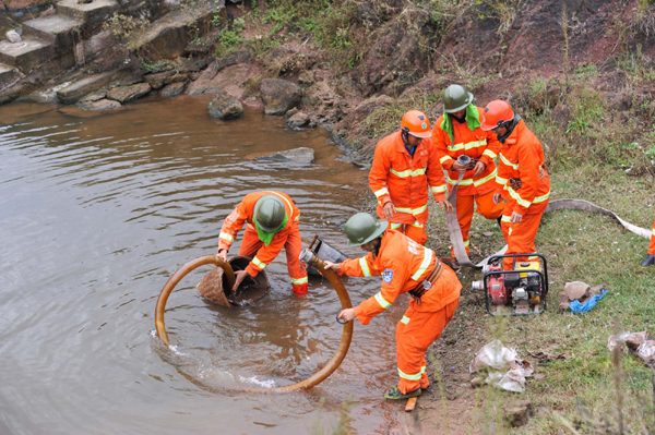
[[[83,22],[64,15],[50,15],[43,19],[34,19],[23,23],[23,36],[48,40],[59,51],[69,51],[75,43]]]

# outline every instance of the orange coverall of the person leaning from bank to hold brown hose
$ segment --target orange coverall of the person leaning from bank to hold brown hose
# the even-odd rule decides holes
[[[436,274],[433,274],[436,273]],[[454,271],[444,266],[434,252],[424,247],[396,230],[386,230],[377,256],[346,259],[341,275],[370,277],[382,275],[382,289],[355,307],[362,325],[386,310],[396,298],[415,289],[428,277],[437,275],[426,286],[420,303],[414,299],[396,327],[396,357],[402,392],[427,388],[426,351],[441,337],[445,325],[455,314],[462,285]]]

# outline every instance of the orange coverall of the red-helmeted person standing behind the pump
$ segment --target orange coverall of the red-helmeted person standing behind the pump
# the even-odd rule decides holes
[[[507,254],[536,253],[535,239],[541,216],[550,197],[550,179],[543,168],[544,149],[539,140],[531,132],[523,120],[514,128],[500,148],[496,176],[496,192],[505,200],[502,212],[502,234],[508,242]],[[521,188],[512,188],[510,180],[521,180]],[[520,222],[512,223],[512,213],[523,215]],[[528,257],[537,259],[537,257]],[[520,257],[519,261],[525,261]],[[504,269],[512,266],[512,258],[505,258]]]

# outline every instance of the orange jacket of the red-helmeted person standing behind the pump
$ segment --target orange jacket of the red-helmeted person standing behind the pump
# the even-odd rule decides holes
[[[550,179],[544,166],[544,148],[523,120],[500,148],[496,192],[508,202],[503,215],[516,212],[543,213],[550,197]],[[520,179],[521,188],[512,188],[510,180]]]

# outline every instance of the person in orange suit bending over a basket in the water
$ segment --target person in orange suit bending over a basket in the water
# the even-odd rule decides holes
[[[307,270],[300,263],[302,241],[298,230],[300,210],[286,193],[262,191],[249,193],[230,213],[218,237],[218,256],[227,261],[227,252],[239,230],[246,226],[239,255],[252,257],[246,270],[235,273],[233,291],[248,275],[255,277],[284,247],[291,287],[296,293],[307,293]]]

